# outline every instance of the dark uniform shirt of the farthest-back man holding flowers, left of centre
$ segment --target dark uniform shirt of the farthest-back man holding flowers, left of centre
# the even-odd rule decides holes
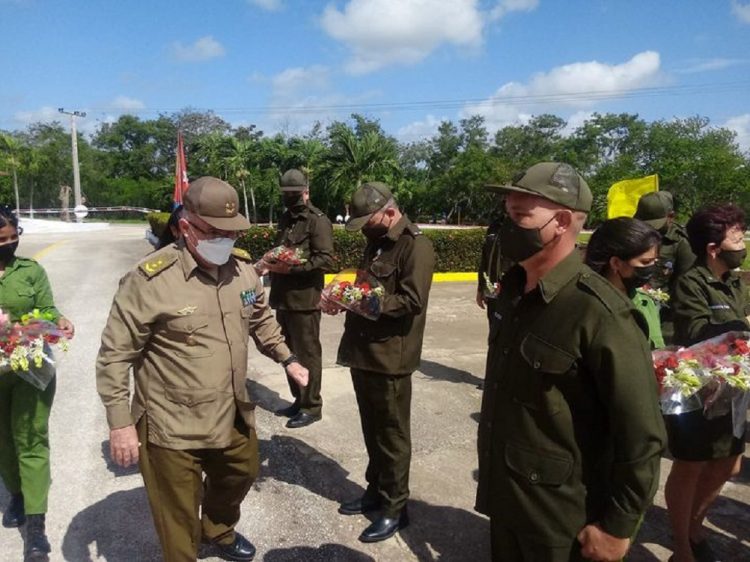
[[[279,220],[276,245],[301,248],[307,261],[292,266],[288,274],[271,273],[272,308],[316,310],[323,275],[333,271],[333,227],[323,211],[306,205],[300,212],[287,210]]]

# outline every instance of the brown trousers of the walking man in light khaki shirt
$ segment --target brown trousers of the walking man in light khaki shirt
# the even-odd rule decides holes
[[[177,450],[148,443],[147,424],[147,415],[137,424],[138,462],[164,560],[194,562],[201,540],[234,542],[240,504],[260,468],[255,430],[237,417],[227,447]]]

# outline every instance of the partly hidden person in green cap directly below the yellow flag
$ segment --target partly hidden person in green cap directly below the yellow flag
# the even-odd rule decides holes
[[[669,191],[646,193],[638,200],[638,208],[633,218],[651,225],[661,234],[661,246],[656,273],[649,285],[674,295],[677,278],[695,262],[695,254],[690,249],[687,232],[674,221],[674,200]],[[674,312],[669,303],[660,310],[662,334],[665,343],[674,340]]]

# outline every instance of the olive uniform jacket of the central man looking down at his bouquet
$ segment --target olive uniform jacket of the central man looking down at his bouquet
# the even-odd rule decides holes
[[[427,300],[435,268],[432,242],[404,216],[369,241],[360,265],[385,289],[377,320],[346,313],[337,362],[388,375],[419,367]]]

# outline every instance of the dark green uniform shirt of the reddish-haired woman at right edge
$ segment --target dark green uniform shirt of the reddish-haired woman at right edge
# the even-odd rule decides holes
[[[730,271],[717,279],[699,261],[675,286],[672,297],[675,339],[692,345],[732,330],[748,330],[745,285]]]

